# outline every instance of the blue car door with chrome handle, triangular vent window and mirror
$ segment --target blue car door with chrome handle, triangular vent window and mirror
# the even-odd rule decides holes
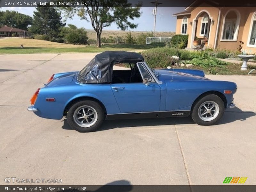
[[[160,86],[154,82],[143,63],[137,63],[142,79],[152,81],[140,83],[115,83],[111,89],[121,113],[151,112],[160,109]]]

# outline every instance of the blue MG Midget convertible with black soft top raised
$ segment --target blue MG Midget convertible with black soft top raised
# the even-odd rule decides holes
[[[120,64],[129,68],[113,69]],[[197,124],[212,125],[235,107],[236,89],[235,83],[211,81],[200,70],[154,70],[139,53],[106,51],[81,71],[53,74],[32,96],[28,111],[49,119],[67,116],[79,132],[116,118],[192,116]]]

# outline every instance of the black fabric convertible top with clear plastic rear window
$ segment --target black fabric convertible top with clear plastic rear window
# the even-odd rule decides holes
[[[110,83],[114,62],[141,62],[144,58],[139,53],[126,51],[105,51],[97,54],[78,75],[81,83]],[[89,74],[90,73],[90,74]],[[89,78],[88,78],[88,75]]]

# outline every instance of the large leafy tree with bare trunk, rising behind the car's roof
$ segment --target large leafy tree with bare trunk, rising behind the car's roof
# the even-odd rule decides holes
[[[97,43],[100,47],[102,29],[116,23],[118,28],[125,30],[136,28],[138,25],[129,21],[140,17],[140,6],[131,7],[128,0],[82,0],[85,7],[60,7],[66,18],[72,18],[77,14],[82,20],[91,21],[92,28],[97,33]]]

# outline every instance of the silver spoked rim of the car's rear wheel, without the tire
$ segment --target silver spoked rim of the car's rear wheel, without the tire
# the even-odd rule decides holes
[[[80,106],[73,114],[74,121],[81,127],[91,127],[98,119],[97,111],[87,105]]]

